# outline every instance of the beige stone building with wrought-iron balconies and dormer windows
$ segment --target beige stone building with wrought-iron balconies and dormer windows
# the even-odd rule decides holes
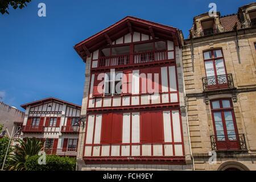
[[[185,97],[196,170],[256,170],[255,27],[256,3],[251,3],[237,14],[196,16],[184,40]]]

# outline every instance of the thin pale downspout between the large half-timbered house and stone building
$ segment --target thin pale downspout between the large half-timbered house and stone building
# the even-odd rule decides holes
[[[184,104],[185,104],[185,110],[186,110],[186,120],[187,120],[187,129],[188,129],[188,143],[189,143],[189,152],[192,160],[192,171],[195,170],[195,162],[194,162],[194,157],[192,154],[192,147],[191,147],[191,139],[190,139],[190,131],[189,131],[189,123],[188,123],[188,112],[187,112],[187,96],[186,96],[186,90],[185,90],[185,81],[184,81],[184,74],[183,74],[183,59],[182,59],[182,51],[180,48],[180,67],[181,67],[181,77],[182,77],[182,82],[183,82],[183,93],[184,93]]]

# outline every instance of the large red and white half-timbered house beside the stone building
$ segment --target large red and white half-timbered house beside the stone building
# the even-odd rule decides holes
[[[76,44],[86,63],[78,169],[191,169],[181,38],[127,16]]]

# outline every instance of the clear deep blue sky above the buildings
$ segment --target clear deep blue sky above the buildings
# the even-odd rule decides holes
[[[38,4],[47,17],[39,18]],[[32,0],[22,10],[0,14],[0,97],[21,104],[57,97],[81,104],[85,64],[73,46],[127,15],[180,28],[185,37],[193,16],[217,4],[221,15],[237,13],[249,0]]]

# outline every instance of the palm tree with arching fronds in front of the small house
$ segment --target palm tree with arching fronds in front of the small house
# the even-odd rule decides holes
[[[25,162],[28,156],[38,155],[43,150],[43,141],[41,139],[25,138],[19,139],[18,145],[14,146],[14,152],[10,155],[9,170],[23,171],[25,170]]]

